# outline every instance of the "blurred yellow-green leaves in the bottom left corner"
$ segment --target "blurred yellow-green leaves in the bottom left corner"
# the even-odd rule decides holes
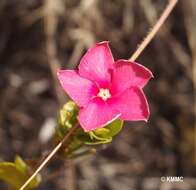
[[[16,157],[15,162],[0,162],[0,179],[14,189],[19,189],[29,176],[29,167],[19,156]],[[37,175],[25,190],[36,188],[40,180],[40,175]]]

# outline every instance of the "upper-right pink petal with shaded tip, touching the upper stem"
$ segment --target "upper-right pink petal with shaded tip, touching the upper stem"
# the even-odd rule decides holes
[[[153,77],[146,67],[128,60],[118,60],[112,73],[112,92],[123,92],[131,86],[144,87]]]

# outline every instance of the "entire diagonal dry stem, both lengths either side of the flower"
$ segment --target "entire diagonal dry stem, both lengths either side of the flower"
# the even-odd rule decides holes
[[[129,59],[130,61],[135,61],[138,56],[143,52],[146,46],[150,43],[153,37],[156,35],[160,27],[164,24],[165,20],[171,13],[172,9],[175,7],[178,0],[170,0],[167,7],[163,11],[157,23],[154,25],[150,33],[146,36],[143,42],[139,45],[135,53]],[[45,158],[45,160],[41,163],[41,165],[37,168],[37,170],[31,175],[31,177],[24,183],[24,185],[19,190],[24,190],[28,184],[32,181],[32,179],[46,166],[46,164],[51,160],[51,158],[59,151],[62,145],[69,139],[71,135],[75,132],[77,126],[73,127],[69,133],[64,137],[64,139],[52,150],[52,152]]]

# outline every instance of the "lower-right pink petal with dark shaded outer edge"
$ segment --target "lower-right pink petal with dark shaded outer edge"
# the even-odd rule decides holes
[[[146,97],[138,87],[131,87],[122,94],[111,98],[109,105],[121,113],[120,118],[123,120],[147,121],[150,115]]]

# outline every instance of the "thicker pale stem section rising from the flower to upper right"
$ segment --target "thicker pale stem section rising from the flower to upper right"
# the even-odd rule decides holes
[[[154,38],[154,36],[157,34],[161,26],[164,24],[167,17],[170,15],[171,11],[175,7],[178,0],[170,0],[167,7],[163,11],[162,15],[160,16],[157,23],[154,25],[154,27],[151,29],[150,33],[144,38],[143,42],[139,45],[135,53],[131,56],[129,59],[130,61],[135,61],[140,54],[143,52],[143,50],[146,48],[146,46],[151,42],[151,40]]]

